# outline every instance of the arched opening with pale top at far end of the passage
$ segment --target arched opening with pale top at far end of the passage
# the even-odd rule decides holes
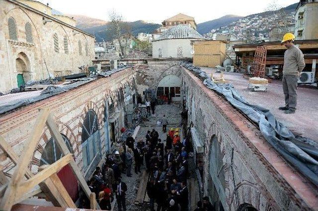
[[[172,101],[181,101],[181,78],[173,74],[166,75],[159,81],[157,97],[167,97],[169,93]]]

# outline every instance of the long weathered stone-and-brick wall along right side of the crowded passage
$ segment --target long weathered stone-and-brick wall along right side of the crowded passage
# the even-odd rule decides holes
[[[222,202],[223,192],[225,210],[236,211],[244,206],[260,211],[308,210],[303,199],[271,165],[273,157],[278,156],[257,135],[258,129],[189,70],[184,68],[181,76],[189,123],[193,122],[204,143],[203,194],[211,197],[211,192],[217,192]],[[214,144],[220,147],[217,155],[217,151],[211,155]],[[221,163],[214,169],[217,172],[214,181],[210,156],[216,156],[216,162]]]

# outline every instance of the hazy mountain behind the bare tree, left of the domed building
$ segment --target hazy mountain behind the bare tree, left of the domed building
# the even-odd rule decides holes
[[[68,16],[74,17],[74,19],[77,21],[76,27],[95,36],[96,42],[102,42],[110,41],[112,40],[112,37],[107,32],[107,26],[108,22],[96,18],[91,18],[84,15],[71,15]],[[130,26],[132,34],[134,36],[137,36],[138,33],[144,32],[144,33],[152,33],[155,31],[160,24],[155,23],[147,23],[143,20],[133,21],[133,22],[127,22],[127,24]]]

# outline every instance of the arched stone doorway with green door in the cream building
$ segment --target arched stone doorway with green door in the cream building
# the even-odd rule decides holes
[[[16,80],[18,87],[31,80],[30,62],[25,53],[21,52],[17,55],[15,59],[15,70],[17,72]]]

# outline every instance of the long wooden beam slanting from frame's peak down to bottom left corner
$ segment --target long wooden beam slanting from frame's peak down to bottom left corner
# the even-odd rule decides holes
[[[49,108],[43,108],[40,110],[40,114],[36,119],[35,125],[32,127],[30,136],[27,138],[25,142],[25,146],[27,146],[26,150],[22,152],[22,155],[18,159],[16,168],[12,174],[12,178],[9,181],[5,193],[2,197],[0,203],[0,210],[10,210],[15,201],[15,198],[19,194],[21,194],[20,189],[18,189],[19,183],[23,179],[25,169],[27,169],[28,164],[33,156],[34,150],[41,138],[42,130],[49,113]]]

